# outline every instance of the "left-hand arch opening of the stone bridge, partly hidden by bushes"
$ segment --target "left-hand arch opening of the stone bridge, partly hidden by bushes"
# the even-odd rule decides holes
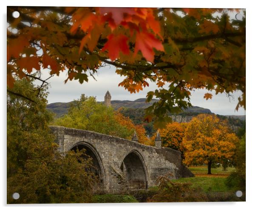
[[[102,158],[100,157],[99,152],[97,152],[97,149],[90,143],[85,141],[80,141],[73,146],[69,150],[74,149],[86,149],[86,154],[89,155],[92,158],[93,165],[95,167],[95,174],[99,176],[101,186],[105,189],[106,186],[106,177],[105,177],[105,169],[102,164]],[[104,190],[103,189],[103,190]]]

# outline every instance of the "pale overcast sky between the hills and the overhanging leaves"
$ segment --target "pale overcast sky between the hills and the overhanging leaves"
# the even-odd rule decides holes
[[[48,69],[43,69],[43,78],[49,76]],[[122,82],[124,77],[120,77],[115,73],[114,66],[105,66],[99,69],[98,75],[95,75],[97,81],[92,77],[89,77],[88,83],[84,82],[80,84],[78,80],[69,81],[64,84],[64,80],[67,78],[67,72],[60,73],[60,76],[51,77],[48,103],[54,102],[70,102],[74,99],[80,98],[81,94],[86,96],[94,96],[97,101],[103,101],[106,91],[111,93],[111,100],[136,100],[138,98],[145,98],[148,91],[154,91],[157,86],[154,83],[149,82],[149,87],[139,91],[136,94],[130,94],[122,87],[118,87],[118,84]],[[191,92],[191,103],[193,106],[199,106],[202,108],[208,108],[210,111],[221,115],[244,115],[245,111],[239,108],[239,111],[235,111],[238,97],[241,95],[241,91],[237,91],[233,94],[234,98],[228,98],[226,94],[217,94],[213,92],[212,99],[204,99],[204,94],[207,90],[196,90]]]

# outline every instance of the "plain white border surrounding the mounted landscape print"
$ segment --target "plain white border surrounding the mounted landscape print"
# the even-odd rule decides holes
[[[128,0],[127,3],[121,3],[121,1],[114,1],[114,0],[106,0],[106,1],[78,1],[78,0],[69,0],[69,1],[52,1],[52,0],[44,0],[44,1],[35,1],[35,0],[9,0],[8,2],[1,1],[1,12],[2,12],[2,33],[0,33],[1,40],[2,40],[2,50],[1,50],[1,64],[2,71],[1,71],[1,126],[0,126],[0,133],[2,134],[1,138],[1,166],[2,170],[0,172],[0,181],[1,181],[1,188],[0,189],[0,203],[5,209],[6,206],[6,6],[112,6],[112,7],[179,7],[179,8],[246,8],[246,16],[247,16],[247,48],[246,48],[246,64],[247,64],[247,78],[246,78],[246,85],[247,85],[247,202],[215,202],[215,203],[140,203],[140,204],[37,204],[37,205],[9,205],[8,209],[14,209],[16,207],[20,209],[37,209],[45,210],[46,207],[48,209],[62,209],[62,210],[69,210],[71,207],[75,207],[77,209],[97,209],[97,208],[104,208],[106,210],[113,210],[122,208],[122,210],[131,208],[147,208],[147,209],[156,209],[156,207],[160,207],[162,209],[190,209],[190,210],[211,210],[219,207],[224,208],[232,208],[232,209],[252,209],[255,207],[253,204],[255,198],[255,149],[256,149],[256,139],[253,138],[255,133],[253,132],[254,129],[254,113],[255,113],[255,86],[253,84],[256,80],[255,75],[255,50],[256,50],[256,31],[255,31],[255,5],[253,5],[252,1],[241,1],[241,0],[233,0],[233,1],[224,1],[224,0],[212,0],[212,1],[199,1],[199,0],[183,0],[183,1],[171,1],[168,0],[166,2],[159,2],[159,1],[139,1],[139,0]]]

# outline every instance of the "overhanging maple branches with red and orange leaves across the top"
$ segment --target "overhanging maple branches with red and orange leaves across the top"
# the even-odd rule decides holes
[[[12,17],[18,11],[20,17]],[[202,8],[7,8],[7,86],[15,78],[51,69],[68,80],[88,81],[111,64],[124,76],[119,86],[131,93],[157,84],[147,101],[145,119],[156,127],[170,122],[168,113],[191,106],[197,88],[232,94],[245,108],[245,14],[230,19],[230,9]],[[237,10],[239,12],[239,10]],[[166,86],[165,86],[166,85]],[[206,93],[209,99],[212,94]]]

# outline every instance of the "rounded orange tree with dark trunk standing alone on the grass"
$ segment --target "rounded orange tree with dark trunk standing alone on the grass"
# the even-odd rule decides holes
[[[211,174],[212,163],[233,159],[238,142],[227,121],[214,114],[200,114],[188,123],[182,141],[185,148],[183,162],[186,165],[208,164],[208,174]]]

